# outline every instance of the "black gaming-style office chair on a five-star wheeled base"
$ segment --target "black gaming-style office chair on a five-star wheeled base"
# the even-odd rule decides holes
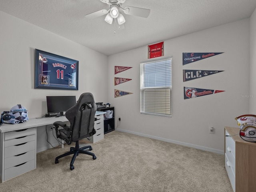
[[[76,142],[76,146],[71,147],[69,152],[55,158],[55,164],[59,162],[59,158],[74,154],[70,162],[70,170],[73,170],[74,160],[76,156],[78,156],[78,153],[88,154],[91,155],[94,160],[96,159],[94,153],[85,150],[87,148],[92,150],[92,146],[79,148],[78,142],[78,140],[88,138],[96,133],[94,129],[96,109],[97,106],[94,102],[93,95],[91,93],[83,93],[78,99],[78,102],[66,111],[65,115],[70,122],[70,126],[67,126],[66,123],[61,121],[54,122],[57,138],[66,141],[68,145],[72,142]],[[62,129],[58,129],[59,126],[61,126]]]

